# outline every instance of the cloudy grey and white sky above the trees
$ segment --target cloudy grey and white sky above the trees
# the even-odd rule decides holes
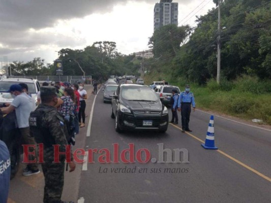
[[[0,0],[0,61],[41,57],[52,62],[62,48],[82,49],[96,41],[114,41],[123,54],[145,50],[159,2]],[[195,15],[215,7],[212,0],[173,2],[179,3],[179,25],[195,26]]]

